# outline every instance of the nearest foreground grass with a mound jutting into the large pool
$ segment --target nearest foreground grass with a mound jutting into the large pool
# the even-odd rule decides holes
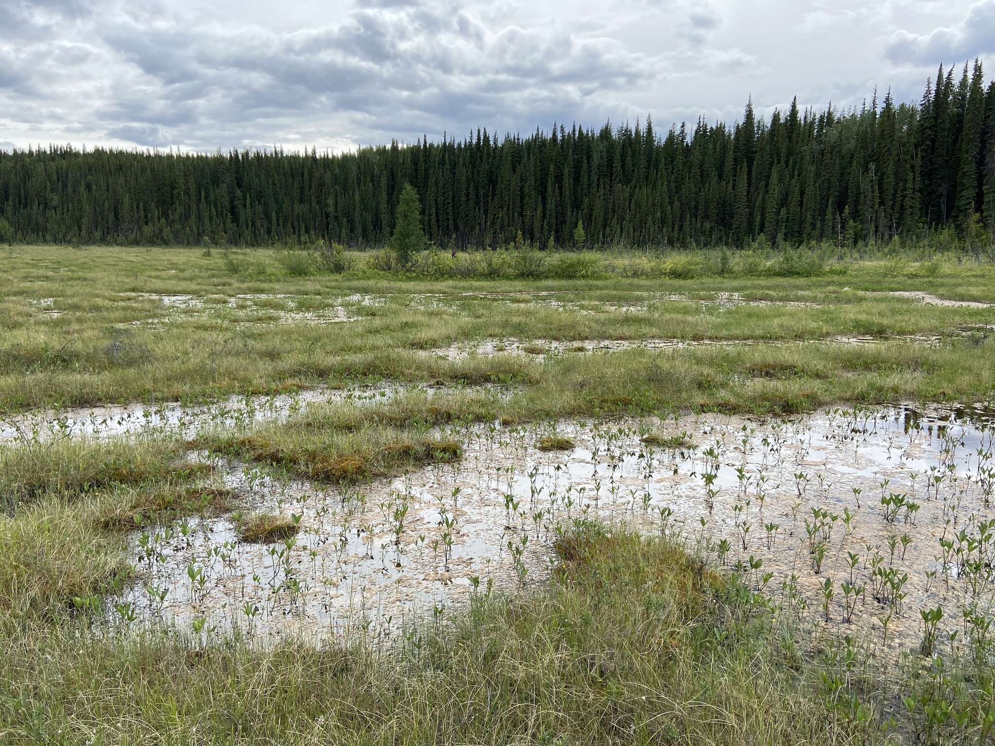
[[[827,718],[761,609],[662,540],[583,526],[556,579],[385,646],[32,636],[0,659],[0,739],[34,743],[877,743]],[[31,695],[21,682],[31,681]]]

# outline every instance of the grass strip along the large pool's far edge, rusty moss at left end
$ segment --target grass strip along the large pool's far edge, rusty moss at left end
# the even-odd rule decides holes
[[[793,369],[789,378],[754,378],[758,366]],[[813,370],[813,375],[804,371]],[[436,448],[425,431],[475,422],[504,424],[682,411],[796,414],[834,403],[979,401],[992,395],[995,342],[924,347],[895,342],[868,347],[742,347],[656,353],[627,350],[550,360],[536,382],[506,397],[457,391],[429,397],[400,394],[367,405],[313,404],[289,423],[249,435],[208,434],[198,445],[318,475],[315,464],[342,449],[371,462],[364,473],[386,473],[395,456],[416,461]],[[403,443],[409,431],[410,448]],[[425,439],[425,440],[423,440]],[[424,442],[424,448],[418,443]],[[397,452],[397,453],[392,453]]]

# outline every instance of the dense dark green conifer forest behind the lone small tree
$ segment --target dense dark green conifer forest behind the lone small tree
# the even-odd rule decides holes
[[[0,241],[380,246],[405,183],[440,247],[798,246],[995,235],[995,82],[733,126],[486,129],[339,155],[50,147],[0,152]],[[4,224],[5,222],[5,224]],[[577,230],[580,226],[581,230]],[[520,238],[519,238],[520,234]]]

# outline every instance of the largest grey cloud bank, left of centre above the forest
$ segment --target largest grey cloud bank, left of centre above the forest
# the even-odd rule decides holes
[[[652,80],[659,67],[611,39],[488,28],[428,6],[364,9],[340,25],[283,33],[168,23],[139,33],[124,18],[103,39],[145,81],[100,107],[101,118],[128,120],[106,135],[143,145],[164,142],[163,131],[132,122],[169,127],[182,142],[197,142],[191,132],[207,121],[254,128],[342,111],[371,133],[406,138],[453,123],[510,127],[509,114],[527,115],[522,104],[541,115],[580,111],[587,97]]]

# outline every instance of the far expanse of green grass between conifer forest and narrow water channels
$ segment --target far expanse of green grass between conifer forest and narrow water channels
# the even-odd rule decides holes
[[[10,250],[0,269],[5,287],[0,300],[0,412],[55,404],[203,400],[384,378],[531,379],[534,370],[526,359],[452,363],[415,352],[483,337],[513,336],[531,349],[530,340],[536,339],[569,344],[646,337],[779,341],[839,334],[944,334],[991,323],[993,311],[919,305],[864,291],[918,289],[964,299],[995,297],[990,271],[954,263],[930,265],[935,271],[923,272],[915,264],[855,262],[848,265],[845,276],[823,278],[610,277],[398,284],[394,278],[377,276],[291,277],[273,252],[256,254],[272,272],[230,276],[220,259],[186,250]],[[582,307],[463,294],[495,289],[574,291],[580,293],[576,299]],[[605,303],[645,302],[647,296],[640,293],[646,292],[711,297],[730,289],[743,297],[818,304],[718,309],[702,308],[697,302],[653,300],[645,310],[589,312]],[[408,294],[419,292],[440,293],[448,305],[423,307]],[[203,299],[203,305],[166,305],[155,296],[137,293],[189,294]],[[365,303],[364,295],[377,298],[378,304]],[[55,298],[52,308],[64,315],[40,314],[32,303],[46,298]],[[216,302],[221,298],[226,302]],[[343,303],[361,320],[275,323],[280,313],[293,308],[320,311]]]

